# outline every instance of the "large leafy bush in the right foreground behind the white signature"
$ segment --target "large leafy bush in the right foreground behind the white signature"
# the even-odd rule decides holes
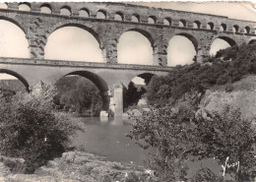
[[[239,110],[229,107],[221,114],[208,112],[207,118],[201,114],[194,116],[193,110],[184,106],[152,108],[134,116],[131,137],[144,149],[157,150],[149,159],[149,167],[159,173],[160,181],[187,180],[190,162],[215,157],[222,165],[227,156],[228,164],[239,161],[240,167],[238,174],[236,168],[228,168],[226,173],[237,181],[254,179],[256,131],[252,121],[241,118]],[[214,178],[212,174],[210,178]]]

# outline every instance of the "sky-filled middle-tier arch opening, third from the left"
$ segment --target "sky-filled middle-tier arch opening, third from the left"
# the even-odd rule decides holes
[[[122,33],[117,44],[117,62],[153,65],[153,42],[149,37],[148,33],[142,33],[141,30],[128,30]]]

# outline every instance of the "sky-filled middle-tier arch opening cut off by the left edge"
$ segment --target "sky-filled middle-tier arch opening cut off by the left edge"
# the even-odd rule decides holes
[[[0,20],[0,57],[30,58],[24,30],[9,20]]]

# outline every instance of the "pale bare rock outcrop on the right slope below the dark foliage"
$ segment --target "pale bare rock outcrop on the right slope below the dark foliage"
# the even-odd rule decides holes
[[[228,91],[226,88],[228,87]],[[242,116],[252,119],[256,116],[256,76],[248,76],[231,86],[222,86],[206,91],[199,104],[199,111],[217,111],[221,113],[225,105],[239,108]]]

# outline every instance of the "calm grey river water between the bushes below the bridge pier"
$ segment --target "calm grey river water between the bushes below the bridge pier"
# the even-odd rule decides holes
[[[74,146],[82,146],[86,152],[106,156],[109,160],[143,165],[150,150],[143,150],[135,141],[126,137],[132,128],[130,121],[120,118],[99,120],[99,118],[73,118],[85,122],[85,133],[79,132]]]

